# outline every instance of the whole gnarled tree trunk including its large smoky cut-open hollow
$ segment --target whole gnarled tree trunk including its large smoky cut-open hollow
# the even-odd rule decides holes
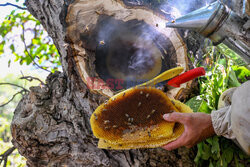
[[[119,89],[119,79],[119,87],[127,88],[135,85],[132,80],[148,80],[177,65],[188,69],[187,52],[200,48],[196,38],[164,27],[171,15],[128,2],[26,1],[53,38],[63,67],[46,85],[30,88],[15,110],[12,142],[29,166],[194,166],[192,149],[97,148],[89,118]],[[144,57],[133,58],[134,53]],[[183,100],[193,91],[189,86],[168,94]]]

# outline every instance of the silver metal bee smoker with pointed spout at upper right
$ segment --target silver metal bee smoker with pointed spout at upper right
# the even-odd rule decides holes
[[[168,22],[166,27],[191,29],[210,38],[214,45],[224,43],[250,64],[250,19],[240,15],[216,1]]]

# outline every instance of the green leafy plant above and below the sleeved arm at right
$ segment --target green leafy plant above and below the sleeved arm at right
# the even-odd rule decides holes
[[[239,81],[247,81],[250,71],[244,64],[239,64],[239,57],[233,51],[224,46],[205,46],[205,48],[207,53],[201,63],[206,62],[207,75],[198,79],[200,94],[186,104],[194,112],[209,114],[212,110],[218,109],[220,95],[228,88],[239,86]],[[208,63],[206,59],[209,59]],[[223,137],[214,136],[206,139],[197,145],[197,149],[194,160],[197,166],[234,166],[235,163],[235,166],[239,167],[243,166],[242,163],[249,162],[247,155],[232,141]]]

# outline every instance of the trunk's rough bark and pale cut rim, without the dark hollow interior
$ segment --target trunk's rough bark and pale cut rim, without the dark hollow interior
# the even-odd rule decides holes
[[[110,36],[107,39],[94,36],[100,32],[103,21],[132,28],[138,24],[148,25],[150,30],[158,32],[160,43],[155,50],[158,48],[170,62],[163,66],[165,69],[176,66],[174,63],[188,69],[187,52],[196,53],[200,48],[196,38],[176,30],[159,29],[158,21],[165,19],[163,13],[131,6],[120,0],[27,0],[26,5],[54,40],[63,67],[63,73],[48,76],[46,85],[31,87],[30,93],[15,110],[11,125],[12,142],[27,158],[28,166],[194,166],[195,151],[192,149],[180,148],[171,152],[161,148],[129,151],[98,149],[89,118],[115,90],[91,90],[87,79],[105,78],[94,63],[100,44],[111,43],[107,42]],[[90,7],[86,8],[88,5]],[[153,16],[156,21],[150,20]],[[170,19],[171,16],[165,17]],[[132,30],[138,31],[136,28]],[[165,53],[160,46],[170,49]],[[175,96],[178,92],[172,94]],[[187,92],[186,95],[190,94],[190,91]]]

